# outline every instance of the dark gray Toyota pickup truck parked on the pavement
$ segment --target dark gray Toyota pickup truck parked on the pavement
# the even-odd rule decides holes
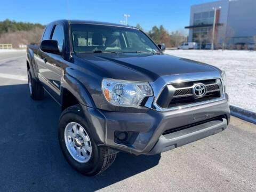
[[[113,23],[59,20],[28,45],[30,97],[61,106],[59,143],[85,175],[119,151],[159,154],[219,133],[230,120],[225,73],[164,54],[143,31]]]

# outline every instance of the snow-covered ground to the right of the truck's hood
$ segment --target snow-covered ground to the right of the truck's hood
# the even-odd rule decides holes
[[[256,111],[256,51],[166,50],[165,53],[225,70],[230,104]]]

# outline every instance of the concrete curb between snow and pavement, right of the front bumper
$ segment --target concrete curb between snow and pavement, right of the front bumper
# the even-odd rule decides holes
[[[230,114],[247,122],[256,124],[256,113],[236,106],[229,106]]]

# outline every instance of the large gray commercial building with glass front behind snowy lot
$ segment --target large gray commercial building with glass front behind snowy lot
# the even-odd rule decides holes
[[[212,42],[215,12],[214,43],[227,45],[256,43],[256,0],[220,0],[191,6],[189,42],[202,47]]]

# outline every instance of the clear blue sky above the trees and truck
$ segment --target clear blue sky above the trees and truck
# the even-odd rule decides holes
[[[213,0],[1,0],[0,21],[5,19],[46,25],[58,19],[140,23],[145,31],[163,25],[169,32],[189,25],[190,6]],[[69,13],[69,14],[68,14]],[[69,15],[69,16],[68,16]]]

